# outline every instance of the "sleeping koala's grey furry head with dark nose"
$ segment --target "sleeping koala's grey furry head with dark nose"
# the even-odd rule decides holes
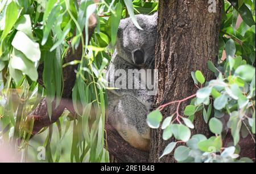
[[[136,18],[143,30],[138,29],[131,18],[121,20],[117,35],[117,53],[129,63],[147,67],[154,61],[158,14],[136,15]]]

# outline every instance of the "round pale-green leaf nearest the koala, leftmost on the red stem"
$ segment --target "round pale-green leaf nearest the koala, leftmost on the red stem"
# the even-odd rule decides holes
[[[147,125],[150,126],[152,129],[157,129],[160,126],[160,122],[162,121],[163,116],[159,109],[151,112],[147,116]]]

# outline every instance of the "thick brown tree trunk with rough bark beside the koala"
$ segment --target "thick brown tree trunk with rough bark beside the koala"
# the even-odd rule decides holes
[[[159,90],[155,96],[155,107],[195,94],[197,88],[191,78],[191,71],[202,71],[207,80],[213,78],[207,61],[217,63],[221,2],[209,2],[212,4],[208,0],[159,0],[155,54]],[[189,102],[180,105],[181,114]],[[176,108],[176,104],[170,105],[163,110],[163,116],[175,113]],[[210,134],[201,114],[195,117],[194,124],[192,134]],[[162,139],[160,129],[152,131],[150,162],[175,162],[172,155],[159,159],[167,144]]]

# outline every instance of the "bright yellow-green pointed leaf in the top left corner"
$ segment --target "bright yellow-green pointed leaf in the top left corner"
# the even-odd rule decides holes
[[[16,20],[18,19],[19,9],[14,1],[11,1],[11,3],[9,3],[7,6],[5,16],[5,29],[2,32],[1,40],[5,39],[8,33],[11,31],[11,28],[13,28]]]

